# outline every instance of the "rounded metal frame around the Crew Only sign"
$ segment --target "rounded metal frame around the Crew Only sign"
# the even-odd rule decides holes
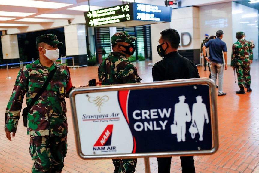
[[[109,155],[87,155],[82,153],[81,142],[79,139],[79,127],[76,114],[75,96],[76,94],[91,93],[91,92],[105,92],[105,91],[123,91],[123,90],[139,90],[149,88],[163,88],[163,87],[177,87],[187,85],[209,85],[209,100],[210,100],[210,116],[211,116],[211,128],[212,128],[212,148],[210,150],[192,150],[192,151],[174,151],[174,152],[154,152],[154,153],[130,153],[130,154],[109,154]],[[134,84],[121,84],[121,85],[106,85],[101,87],[82,87],[74,88],[70,94],[70,103],[75,131],[75,141],[78,155],[82,159],[118,159],[118,158],[136,158],[144,157],[169,157],[169,156],[193,156],[193,155],[209,155],[218,150],[218,120],[217,120],[217,90],[216,85],[212,79],[209,78],[196,78],[196,79],[179,79],[160,81],[152,83],[134,83]]]

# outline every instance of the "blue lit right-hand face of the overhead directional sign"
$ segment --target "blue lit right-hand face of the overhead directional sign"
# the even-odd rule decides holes
[[[157,5],[131,3],[133,20],[171,22],[172,8]]]

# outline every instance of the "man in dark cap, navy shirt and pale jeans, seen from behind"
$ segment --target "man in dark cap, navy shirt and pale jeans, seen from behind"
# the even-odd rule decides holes
[[[209,40],[209,42],[206,43],[202,47],[203,54],[206,54],[206,48],[209,48],[209,55],[208,58],[205,56],[206,60],[209,62],[210,65],[210,73],[211,73],[211,79],[214,80],[216,83],[217,81],[217,75],[218,75],[218,96],[226,95],[227,93],[223,93],[223,68],[224,68],[224,61],[223,61],[223,55],[222,51],[224,53],[224,59],[225,59],[225,70],[227,70],[227,46],[226,43],[223,42],[221,39],[223,38],[223,31],[218,30],[216,32],[216,39]]]

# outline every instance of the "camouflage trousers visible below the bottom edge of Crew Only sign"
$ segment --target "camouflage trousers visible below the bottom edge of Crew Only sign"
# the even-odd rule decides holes
[[[135,159],[112,159],[115,167],[114,173],[132,173],[135,172],[137,158]]]

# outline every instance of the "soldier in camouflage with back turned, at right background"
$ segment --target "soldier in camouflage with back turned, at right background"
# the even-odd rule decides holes
[[[247,92],[251,92],[251,76],[250,76],[250,58],[253,56],[253,51],[248,42],[244,41],[243,32],[236,32],[238,39],[232,46],[231,67],[236,68],[239,91],[237,94],[245,94],[244,78],[247,83]]]

